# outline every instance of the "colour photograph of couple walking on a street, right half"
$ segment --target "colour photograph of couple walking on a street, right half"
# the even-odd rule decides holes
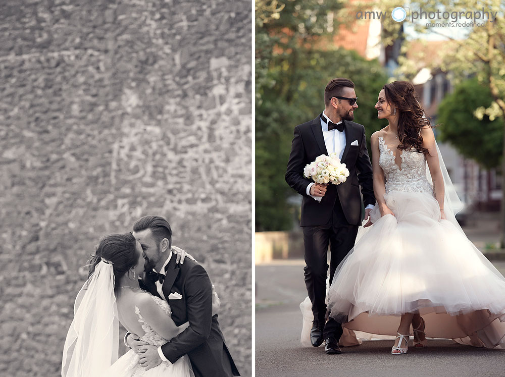
[[[255,375],[502,375],[499,1],[263,1]]]

